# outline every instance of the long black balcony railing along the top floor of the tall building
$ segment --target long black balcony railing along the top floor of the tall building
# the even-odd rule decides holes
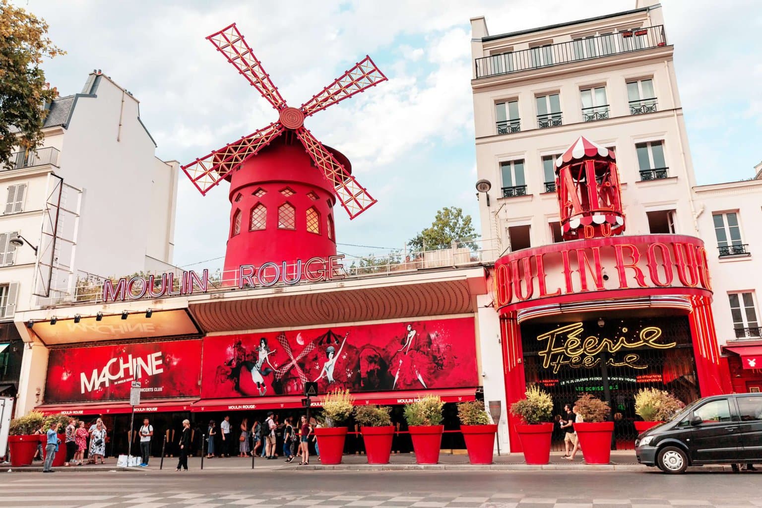
[[[549,44],[475,59],[476,78],[562,65],[617,53],[648,50],[657,46],[666,46],[666,44],[667,38],[664,36],[662,25],[586,37],[566,43]]]

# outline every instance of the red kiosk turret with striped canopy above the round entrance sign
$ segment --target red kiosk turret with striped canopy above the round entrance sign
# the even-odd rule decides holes
[[[622,191],[612,150],[580,136],[555,161],[564,240],[621,235]]]

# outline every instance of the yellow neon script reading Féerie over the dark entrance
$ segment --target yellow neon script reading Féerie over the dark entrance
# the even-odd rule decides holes
[[[627,328],[623,328],[623,336],[616,340],[600,338],[591,335],[584,339],[579,336],[583,332],[582,323],[567,324],[546,334],[539,335],[537,340],[547,340],[545,350],[539,352],[543,358],[543,368],[553,367],[553,372],[559,372],[562,366],[568,365],[573,369],[591,369],[600,364],[601,352],[614,354],[620,350],[631,350],[636,347],[652,347],[657,350],[668,350],[677,345],[676,342],[661,343],[661,328],[649,326],[643,328],[637,337],[626,337]],[[632,367],[633,369],[645,369],[640,364],[640,355],[626,353],[621,361],[614,358],[607,359],[607,365],[612,367]]]

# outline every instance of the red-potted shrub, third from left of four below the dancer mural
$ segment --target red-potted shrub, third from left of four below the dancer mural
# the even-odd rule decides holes
[[[405,406],[405,421],[413,440],[417,464],[437,464],[442,445],[442,407],[444,402],[437,395],[427,395]]]

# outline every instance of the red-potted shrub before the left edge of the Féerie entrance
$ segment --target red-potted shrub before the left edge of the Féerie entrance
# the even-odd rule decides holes
[[[537,386],[524,393],[525,397],[511,404],[511,414],[520,417],[516,432],[521,440],[527,464],[550,462],[550,441],[553,433],[553,399]]]

